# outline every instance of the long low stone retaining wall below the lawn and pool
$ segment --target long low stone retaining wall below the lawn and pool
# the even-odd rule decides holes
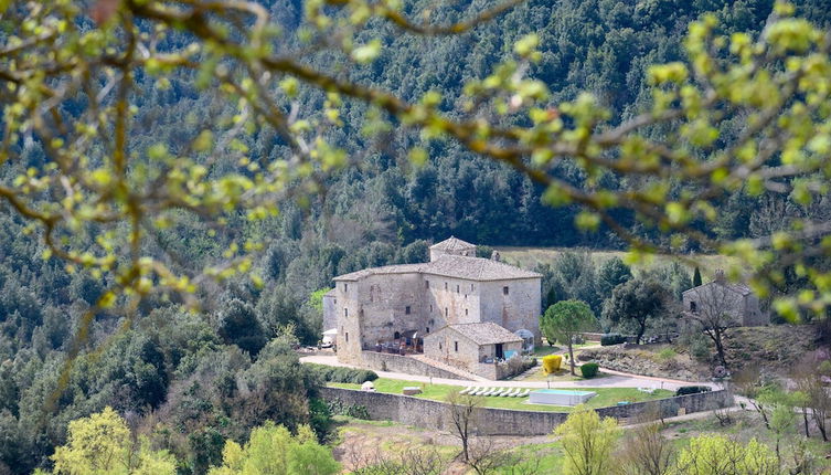
[[[323,388],[321,389],[321,397],[329,401],[340,401],[345,405],[361,405],[366,409],[372,420],[395,421],[402,424],[441,431],[451,430],[450,405],[445,402],[340,388]],[[733,394],[720,390],[621,407],[601,408],[597,409],[597,412],[601,416],[611,416],[626,422],[639,415],[669,418],[681,413],[710,411],[729,405],[733,405]],[[568,414],[478,408],[475,416],[476,430],[479,435],[545,435],[562,424]]]

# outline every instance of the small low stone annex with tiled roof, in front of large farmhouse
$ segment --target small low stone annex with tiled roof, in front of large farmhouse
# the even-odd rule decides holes
[[[522,353],[523,340],[490,321],[451,324],[424,337],[424,356],[479,373],[480,363]]]

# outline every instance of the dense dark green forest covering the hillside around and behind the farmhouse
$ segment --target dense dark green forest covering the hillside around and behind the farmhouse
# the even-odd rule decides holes
[[[301,1],[263,3],[288,31],[302,29]],[[407,8],[417,12],[428,3],[433,4],[412,1]],[[448,2],[433,9],[432,20],[458,20],[481,9],[481,3]],[[682,56],[691,21],[715,12],[726,32],[758,32],[771,8],[773,1],[755,0],[531,0],[469,33],[428,39],[371,23],[361,34],[383,40],[381,57],[366,68],[351,71],[344,64],[342,74],[404,98],[440,91],[450,109],[468,81],[484,76],[516,39],[537,32],[542,60],[530,74],[544,81],[555,99],[590,91],[614,110],[615,120],[622,120],[651,101],[646,67]],[[807,0],[798,8],[819,24],[831,23],[824,1]],[[286,38],[290,42],[294,36]],[[318,53],[309,61],[331,64],[338,57]],[[166,88],[156,87],[151,77],[137,81],[145,92],[136,98],[139,131],[131,140],[137,148],[159,139],[184,145],[196,134],[196,124],[230,107],[199,92],[193,76],[171,77]],[[315,110],[324,99],[319,92],[301,89],[299,108]],[[79,97],[67,105],[67,114],[84,107]],[[95,315],[88,338],[76,338],[108,277],[67,268],[55,257],[41,258],[38,231],[0,203],[0,474],[50,467],[54,447],[66,442],[67,423],[105,407],[126,414],[134,429],[175,454],[181,474],[204,474],[220,465],[226,440],[244,441],[267,420],[291,430],[309,424],[326,441],[331,436],[330,410],[315,399],[320,380],[299,365],[292,348],[317,342],[320,291],[331,286],[333,276],[424,261],[427,246],[450,234],[486,245],[624,246],[607,229],[579,231],[574,224],[576,207],[544,205],[542,188],[529,178],[452,141],[432,141],[429,160],[414,167],[403,150],[418,137],[390,133],[383,144],[367,142],[362,134],[369,120],[365,113],[364,105],[347,103],[344,127],[330,138],[349,150],[352,166],[329,177],[324,191],[311,202],[286,203],[278,217],[257,223],[238,217],[220,233],[194,223],[156,236],[160,249],[195,266],[220,255],[232,235],[268,236],[259,261],[264,285],[231,279],[207,288],[199,295],[199,312],[159,295],[136,309]],[[274,131],[244,140],[254,157],[286,152]],[[28,162],[2,165],[0,181],[43,163],[38,142],[23,138],[21,147]],[[558,167],[562,178],[584,184],[576,167],[567,161]],[[606,180],[610,188],[638,186],[615,177]],[[636,234],[657,235],[636,224],[635,217],[619,213]],[[721,203],[717,226],[703,231],[727,239],[767,235],[781,229],[788,217],[805,213],[829,217],[831,202],[806,210],[784,198],[737,192]],[[542,271],[546,304],[576,296],[600,314],[608,288]],[[676,293],[689,276],[675,270],[667,271],[664,278]],[[565,288],[568,285],[575,288]],[[62,373],[73,357],[68,373]]]

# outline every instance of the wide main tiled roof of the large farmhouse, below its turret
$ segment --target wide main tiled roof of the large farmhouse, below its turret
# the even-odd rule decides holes
[[[466,281],[510,281],[514,278],[542,278],[541,274],[525,271],[503,262],[481,257],[461,255],[443,255],[433,262],[424,264],[386,265],[383,267],[364,268],[351,274],[339,275],[335,281],[360,281],[370,275],[387,274],[429,274],[444,277],[464,278]]]

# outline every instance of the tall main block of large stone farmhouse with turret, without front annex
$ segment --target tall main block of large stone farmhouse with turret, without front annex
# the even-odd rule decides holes
[[[430,262],[369,268],[334,278],[326,323],[338,328],[338,359],[353,365],[381,342],[420,341],[447,325],[493,323],[540,340],[540,274],[475,257],[451,238],[430,247]],[[416,348],[417,349],[417,348]],[[467,351],[467,350],[466,350]],[[471,347],[464,360],[478,360]]]

